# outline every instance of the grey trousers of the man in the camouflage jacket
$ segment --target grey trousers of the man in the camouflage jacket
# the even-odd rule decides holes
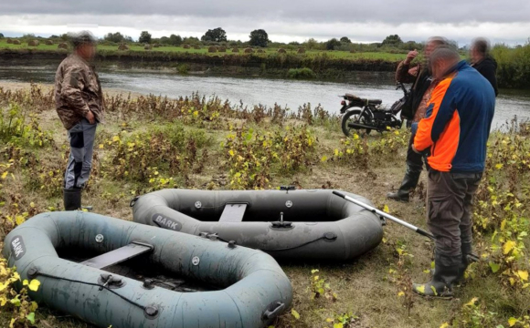
[[[89,180],[97,126],[83,118],[69,129],[70,156],[64,177],[65,189],[82,189]]]

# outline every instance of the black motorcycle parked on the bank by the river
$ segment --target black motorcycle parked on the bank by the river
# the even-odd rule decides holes
[[[381,108],[383,103],[381,99],[361,98],[352,94],[339,96],[344,98],[341,101],[343,106],[341,114],[344,114],[341,127],[345,136],[350,137],[352,130],[364,129],[368,135],[372,130],[383,132],[388,128],[401,128],[403,120],[398,117],[398,113],[401,111],[410,90],[407,90],[402,83],[399,83],[396,89],[399,88],[403,90],[404,97],[396,101],[390,108]]]

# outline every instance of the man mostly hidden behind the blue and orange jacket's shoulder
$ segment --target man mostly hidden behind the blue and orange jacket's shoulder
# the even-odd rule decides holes
[[[470,56],[472,67],[482,74],[482,77],[486,77],[492,84],[495,90],[495,97],[499,95],[499,89],[497,88],[497,62],[490,56],[490,42],[483,38],[477,37],[472,42],[470,49]]]

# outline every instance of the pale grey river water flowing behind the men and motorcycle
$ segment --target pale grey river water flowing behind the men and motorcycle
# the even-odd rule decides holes
[[[54,66],[0,66],[0,81],[53,83]],[[341,98],[346,92],[359,97],[380,98],[390,106],[402,97],[396,90],[393,74],[389,72],[355,72],[348,82],[298,81],[285,79],[211,77],[178,75],[167,72],[139,70],[106,70],[100,72],[102,87],[110,87],[141,94],[167,97],[216,95],[232,103],[273,106],[296,110],[304,103],[321,104],[330,113],[338,113]],[[493,128],[517,116],[530,119],[530,90],[502,89],[497,98]]]

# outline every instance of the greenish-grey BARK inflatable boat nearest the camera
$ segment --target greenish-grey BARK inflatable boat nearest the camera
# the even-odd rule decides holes
[[[265,327],[292,302],[262,251],[82,211],[27,220],[3,254],[33,300],[105,328]]]

